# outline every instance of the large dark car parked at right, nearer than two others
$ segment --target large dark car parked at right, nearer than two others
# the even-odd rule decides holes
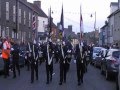
[[[106,79],[110,79],[111,75],[115,75],[118,72],[119,66],[119,49],[109,49],[106,56],[101,61],[101,74],[105,74]]]

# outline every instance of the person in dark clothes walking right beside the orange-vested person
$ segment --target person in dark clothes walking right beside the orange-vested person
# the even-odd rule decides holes
[[[13,42],[11,48],[12,54],[12,65],[13,65],[13,78],[16,78],[16,69],[18,71],[18,75],[20,76],[20,66],[19,66],[19,45],[16,42]]]

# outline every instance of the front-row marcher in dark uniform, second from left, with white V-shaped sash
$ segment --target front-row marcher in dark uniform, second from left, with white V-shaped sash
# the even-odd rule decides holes
[[[47,43],[47,52],[46,52],[46,75],[47,82],[49,84],[52,81],[53,74],[53,44],[52,42]]]

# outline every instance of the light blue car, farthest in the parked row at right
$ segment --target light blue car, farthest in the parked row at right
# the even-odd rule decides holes
[[[96,58],[99,57],[102,47],[93,47],[93,54],[92,54],[92,64],[95,65]]]

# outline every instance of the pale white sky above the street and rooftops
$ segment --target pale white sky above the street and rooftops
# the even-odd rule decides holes
[[[27,0],[33,2],[34,0]],[[94,30],[95,12],[96,28],[100,29],[110,15],[110,3],[118,0],[40,0],[42,10],[48,15],[51,6],[53,22],[60,22],[61,8],[64,10],[64,27],[72,25],[75,33],[80,32],[80,6],[83,17],[84,32]],[[91,17],[92,14],[92,17]]]

